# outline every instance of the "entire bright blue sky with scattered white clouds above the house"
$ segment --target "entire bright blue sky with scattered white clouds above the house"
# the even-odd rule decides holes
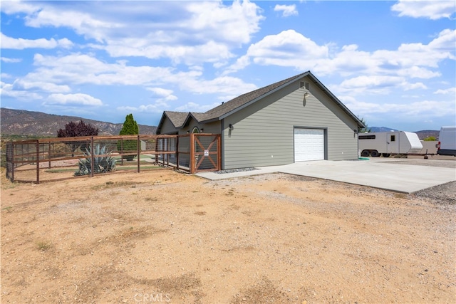
[[[1,107],[157,125],[311,70],[370,126],[456,125],[455,1],[1,1]]]

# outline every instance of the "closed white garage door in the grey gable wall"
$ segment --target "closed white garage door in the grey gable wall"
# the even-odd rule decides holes
[[[294,129],[294,161],[325,159],[325,135],[321,129]]]

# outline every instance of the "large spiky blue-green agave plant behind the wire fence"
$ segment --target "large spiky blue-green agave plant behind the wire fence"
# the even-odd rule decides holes
[[[93,154],[93,173],[106,173],[115,170],[115,159],[111,157],[111,152],[106,152],[106,146],[96,145],[86,148],[84,152],[86,158],[79,159],[79,169],[74,173],[75,176],[92,174],[92,154]],[[97,156],[103,155],[103,156]]]

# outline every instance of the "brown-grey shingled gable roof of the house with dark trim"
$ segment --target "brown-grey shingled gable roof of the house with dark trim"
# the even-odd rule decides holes
[[[355,120],[360,127],[366,127],[364,123],[356,117],[348,108],[343,105],[341,100],[338,100],[333,93],[331,93],[323,83],[318,80],[311,71],[307,71],[305,73],[301,73],[295,75],[290,78],[286,78],[284,80],[278,81],[276,83],[272,83],[271,85],[266,85],[263,88],[259,88],[257,90],[253,90],[252,92],[242,94],[237,98],[233,98],[232,100],[227,101],[226,103],[222,103],[222,105],[218,105],[215,108],[208,110],[207,112],[171,112],[165,111],[163,112],[162,119],[158,124],[157,131],[160,130],[162,120],[164,119],[165,115],[170,118],[172,124],[178,129],[183,127],[190,118],[194,118],[197,122],[212,122],[216,120],[222,120],[224,117],[232,115],[234,112],[242,110],[243,108],[255,103],[262,98],[265,98],[267,95],[270,95],[276,90],[280,90],[284,88],[286,85],[304,77],[309,77],[322,91],[326,93],[331,100],[333,100],[336,105],[338,105],[344,112],[346,112],[353,120]]]

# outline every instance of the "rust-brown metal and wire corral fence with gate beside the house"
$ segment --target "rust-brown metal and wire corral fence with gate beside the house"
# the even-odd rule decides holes
[[[108,167],[106,159],[115,163],[115,169],[97,171],[94,166]],[[55,137],[6,142],[6,177],[11,182],[38,184],[93,177],[94,172],[140,172],[160,166],[192,174],[221,169],[220,135]],[[81,167],[86,174],[76,173],[82,172]]]

